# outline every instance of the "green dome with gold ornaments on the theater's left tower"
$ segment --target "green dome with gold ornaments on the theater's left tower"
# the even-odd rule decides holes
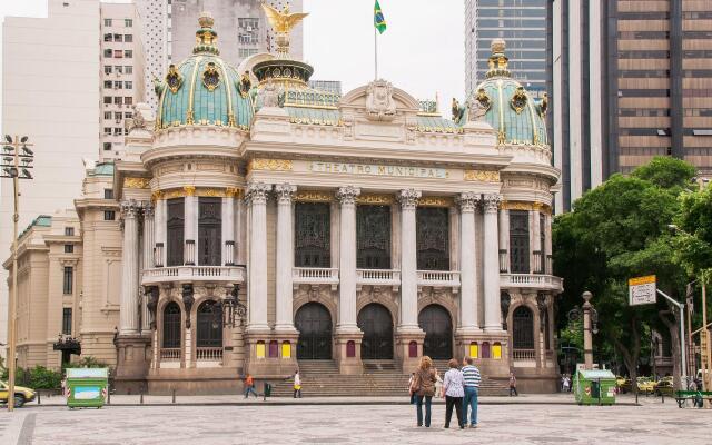
[[[196,125],[247,130],[254,113],[249,87],[219,57],[212,18],[204,13],[199,23],[194,55],[171,65],[162,81],[155,80],[160,98],[156,128]]]

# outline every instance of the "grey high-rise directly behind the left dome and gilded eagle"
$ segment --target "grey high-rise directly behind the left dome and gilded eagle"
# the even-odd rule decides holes
[[[168,10],[168,60],[178,63],[191,55],[196,40],[195,20],[202,11],[209,11],[216,21],[216,32],[220,42],[220,56],[233,63],[239,63],[258,52],[274,50],[274,33],[266,21],[259,0],[172,0]],[[303,0],[271,0],[267,4],[283,10],[289,6],[290,12],[301,11]],[[289,52],[303,57],[303,31],[298,24],[290,34]]]

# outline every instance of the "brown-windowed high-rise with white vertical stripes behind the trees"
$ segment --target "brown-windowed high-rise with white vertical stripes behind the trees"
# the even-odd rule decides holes
[[[712,175],[712,1],[553,0],[547,8],[556,211],[654,156]]]

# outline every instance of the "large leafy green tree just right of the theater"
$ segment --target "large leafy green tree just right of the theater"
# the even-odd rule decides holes
[[[663,301],[630,307],[627,279],[656,275],[659,287],[673,297],[684,285],[686,276],[674,264],[668,226],[679,209],[678,196],[688,190],[693,176],[694,168],[684,161],[654,158],[627,177],[613,175],[554,222],[555,273],[566,288],[560,314],[591,290],[599,338],[620,353],[633,382],[649,328],[668,328],[670,319],[662,318],[669,316]],[[675,347],[679,354],[680,344]],[[679,368],[675,374],[680,375]]]

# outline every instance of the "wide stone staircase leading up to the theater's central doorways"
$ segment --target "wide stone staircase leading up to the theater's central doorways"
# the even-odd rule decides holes
[[[441,375],[447,362],[437,362]],[[364,360],[364,374],[342,375],[334,360],[299,360],[303,397],[398,397],[407,399],[408,374],[394,360]],[[273,397],[291,397],[291,379],[273,385]],[[484,379],[482,395],[507,395],[501,384]]]

